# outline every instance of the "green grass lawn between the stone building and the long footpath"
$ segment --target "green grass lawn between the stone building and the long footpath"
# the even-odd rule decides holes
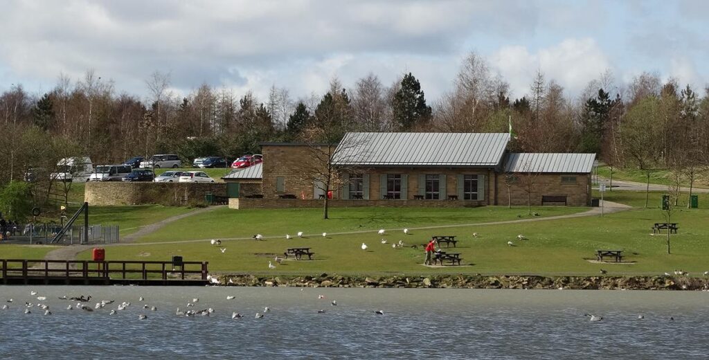
[[[588,208],[535,207],[540,216],[565,215]],[[302,231],[354,232],[381,228],[427,227],[451,224],[486,223],[534,218],[527,208],[486,206],[481,208],[330,208],[330,219],[323,220],[322,209],[252,209],[221,208],[209,213],[178,220],[140,239],[140,242],[165,242],[211,238],[285,237]]]

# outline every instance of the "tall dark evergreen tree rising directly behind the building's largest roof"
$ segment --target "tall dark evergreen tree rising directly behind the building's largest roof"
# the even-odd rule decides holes
[[[401,130],[411,130],[415,125],[430,119],[431,107],[426,105],[426,99],[421,84],[410,73],[401,80],[401,89],[396,91],[393,99],[393,120]]]

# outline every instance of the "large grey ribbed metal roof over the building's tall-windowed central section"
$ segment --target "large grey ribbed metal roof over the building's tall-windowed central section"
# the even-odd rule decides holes
[[[509,140],[507,133],[347,133],[333,164],[493,167]]]

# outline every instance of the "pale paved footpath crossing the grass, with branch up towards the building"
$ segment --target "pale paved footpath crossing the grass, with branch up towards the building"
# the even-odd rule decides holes
[[[208,209],[212,209],[215,207],[211,207]],[[623,211],[623,210],[630,210],[632,207],[627,206],[621,203],[613,203],[611,201],[605,201],[605,205],[603,207],[603,212],[606,214],[610,213],[617,213],[618,211]],[[130,237],[130,242],[120,242],[116,244],[105,244],[101,245],[104,247],[112,247],[112,246],[140,246],[140,245],[157,245],[157,244],[186,244],[189,242],[207,242],[209,239],[200,239],[200,240],[184,240],[184,241],[170,241],[170,242],[133,242],[134,240],[138,239],[140,236],[145,236],[147,234],[150,234],[150,232],[154,232],[160,227],[163,227],[164,225],[167,225],[168,223],[172,223],[172,221],[179,220],[181,218],[186,218],[187,216],[191,215],[196,215],[197,213],[203,213],[205,209],[200,209],[193,211],[191,213],[186,213],[182,215],[177,215],[172,218],[168,218],[165,220],[160,221],[159,223],[155,223],[152,225],[147,225],[143,227],[142,230],[145,230],[138,235],[138,232],[135,232],[133,234],[133,237]],[[569,218],[583,218],[587,216],[596,216],[596,215],[601,215],[601,208],[591,208],[591,210],[584,211],[583,213],[575,213],[575,214],[569,214],[569,215],[557,215],[557,216],[549,216],[546,218],[530,218],[530,219],[519,219],[519,220],[506,220],[506,221],[493,221],[489,223],[470,223],[470,224],[452,224],[452,225],[436,225],[436,226],[424,226],[424,227],[409,227],[409,230],[427,230],[427,229],[442,229],[442,228],[448,228],[448,227],[468,227],[468,226],[481,226],[481,225],[503,225],[503,224],[517,224],[517,223],[532,223],[535,221],[547,221],[547,220],[559,220],[559,219],[569,219]],[[179,218],[179,219],[178,219]],[[162,225],[159,225],[162,224]],[[150,229],[148,231],[147,229]],[[390,230],[401,230],[401,229],[390,229]],[[368,232],[376,232],[377,230],[361,230],[361,231],[350,231],[350,232],[332,232],[328,233],[328,235],[351,235],[351,234],[365,234]],[[306,234],[304,235],[306,237],[316,237],[320,236],[320,234]],[[280,239],[283,238],[283,236],[277,236],[277,237],[264,237],[264,239]],[[229,237],[229,238],[220,238],[221,241],[227,241],[227,240],[252,240],[252,237]],[[92,247],[96,247],[96,245],[71,245],[71,246],[66,246],[62,247],[60,249],[56,249],[52,252],[49,252],[45,259],[52,259],[52,260],[73,260],[77,257],[77,254],[79,252],[83,252],[85,250],[91,249]]]

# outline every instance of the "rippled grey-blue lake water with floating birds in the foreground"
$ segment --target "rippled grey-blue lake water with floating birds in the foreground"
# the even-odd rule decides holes
[[[116,302],[89,313],[57,299],[82,294],[91,307]],[[709,358],[708,292],[0,286],[0,301],[10,306],[0,310],[2,359]],[[23,313],[26,301],[52,315]],[[184,317],[178,307],[215,312]]]

